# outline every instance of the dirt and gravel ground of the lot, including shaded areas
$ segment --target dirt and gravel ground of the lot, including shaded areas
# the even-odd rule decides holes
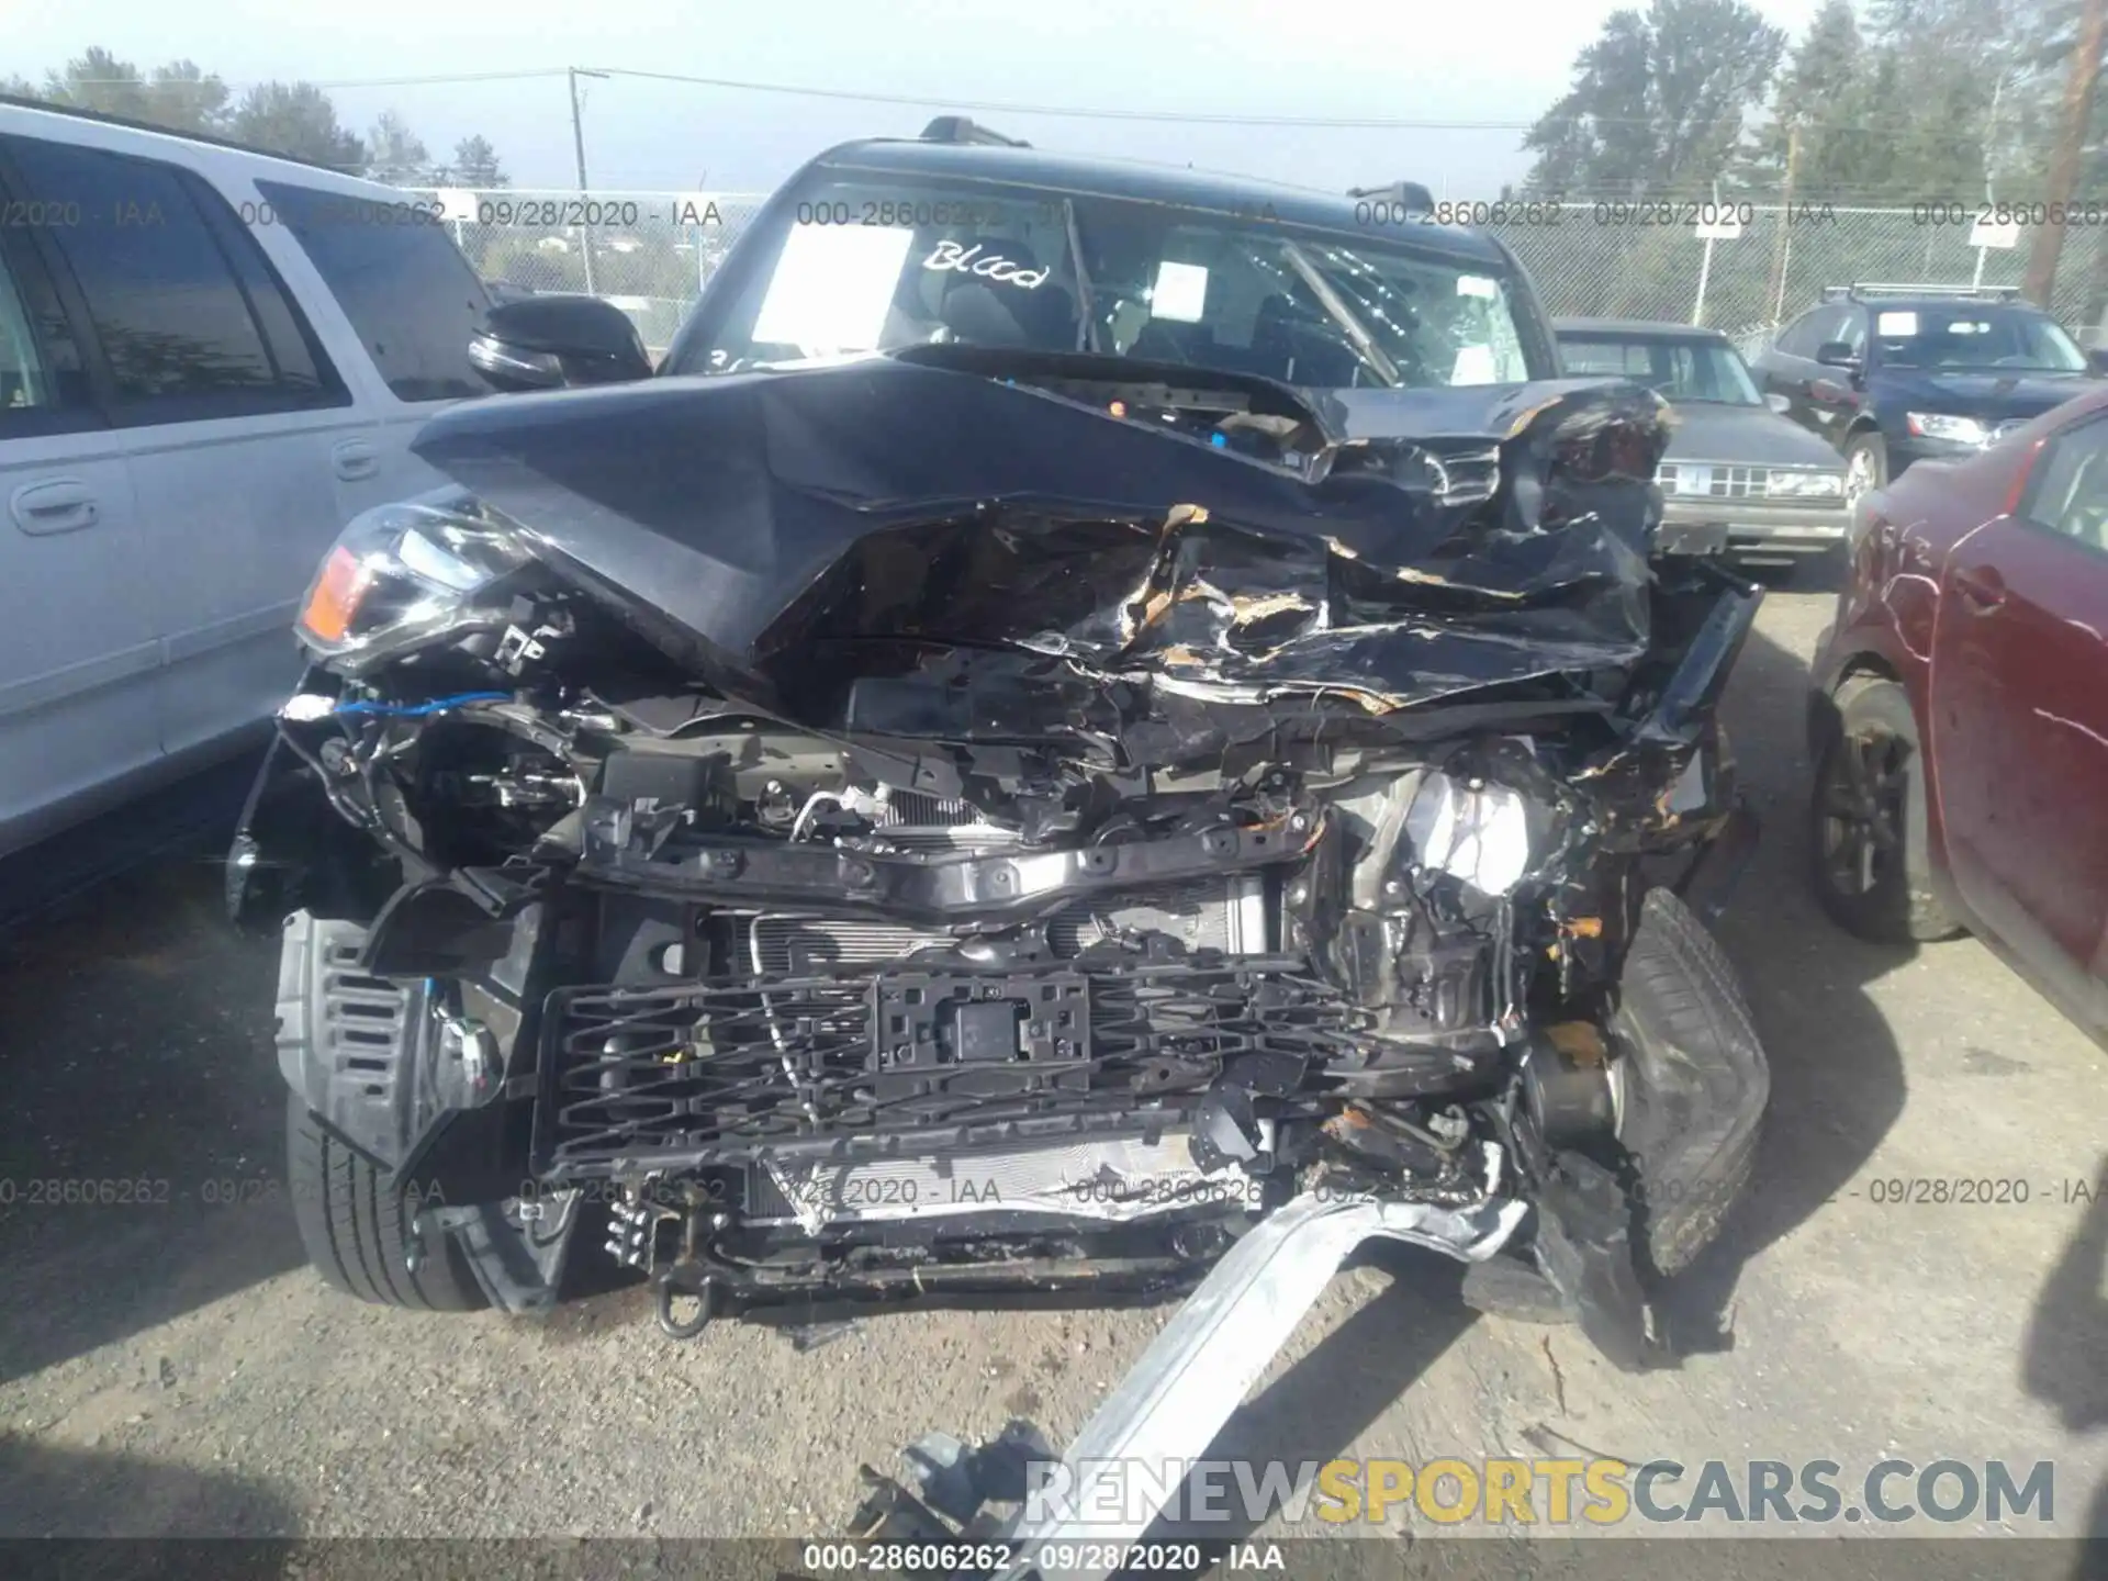
[[[1885,1457],[2047,1459],[2055,1524],[2013,1528],[2108,1528],[2108,1204],[2072,1199],[2108,1185],[2108,1060],[1973,940],[1889,953],[1815,911],[1800,708],[1828,611],[1775,594],[1729,706],[1767,831],[1722,934],[1775,1092],[1754,1195],[1676,1299],[1697,1353],[1629,1379],[1385,1256],[1334,1280],[1218,1452],[1832,1459],[1847,1488]],[[801,1353],[677,1345],[635,1288],[544,1324],[337,1299],[278,1195],[274,959],[215,885],[164,864],[0,959],[4,1535],[833,1530],[856,1463],[925,1429],[1065,1440],[1164,1322],[915,1313]],[[25,1206],[51,1176],[148,1202]],[[1897,1206],[1876,1178],[2030,1202]]]

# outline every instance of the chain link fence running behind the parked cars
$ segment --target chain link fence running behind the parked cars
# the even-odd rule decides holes
[[[708,285],[765,194],[466,192],[436,200],[468,261],[510,291],[590,291],[628,312],[653,354]],[[1834,209],[1722,204],[1733,238],[1703,242],[1689,202],[1486,204],[1473,211],[1528,266],[1554,314],[1667,318],[1729,331],[1743,350],[1826,285],[1910,280],[2017,287],[2015,247],[1971,247],[1977,204]],[[1398,232],[1408,234],[1408,232]],[[2068,226],[2055,316],[2095,339],[2108,304],[2108,226]]]

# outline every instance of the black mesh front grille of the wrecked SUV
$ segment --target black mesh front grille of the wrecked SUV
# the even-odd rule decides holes
[[[946,970],[991,984],[1035,974],[1081,976],[1088,1052],[995,1067],[1022,1077],[1016,1092],[953,1086],[978,1069],[957,1065],[936,1090],[877,1100],[871,1016],[883,972],[554,989],[542,1014],[533,1172],[548,1183],[641,1178],[790,1157],[1147,1136],[1191,1124],[1229,1060],[1258,1056],[1307,1079],[1366,1033],[1362,1012],[1301,955],[1098,955]],[[698,1024],[717,1046],[702,1056],[694,1056]],[[790,1035],[776,1041],[772,1024]],[[624,1046],[605,1052],[611,1039]],[[594,1041],[601,1050],[588,1048]],[[727,1115],[746,1121],[723,1124]]]

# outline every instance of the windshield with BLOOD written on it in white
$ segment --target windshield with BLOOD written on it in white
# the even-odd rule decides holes
[[[822,177],[713,320],[670,373],[949,341],[1322,388],[1530,377],[1490,266],[1271,215],[989,183]]]

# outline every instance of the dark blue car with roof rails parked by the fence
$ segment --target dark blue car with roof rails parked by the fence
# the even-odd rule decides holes
[[[2087,354],[2017,291],[1830,287],[1756,358],[1785,415],[1844,455],[1857,500],[1912,462],[1994,445],[2095,379]]]

